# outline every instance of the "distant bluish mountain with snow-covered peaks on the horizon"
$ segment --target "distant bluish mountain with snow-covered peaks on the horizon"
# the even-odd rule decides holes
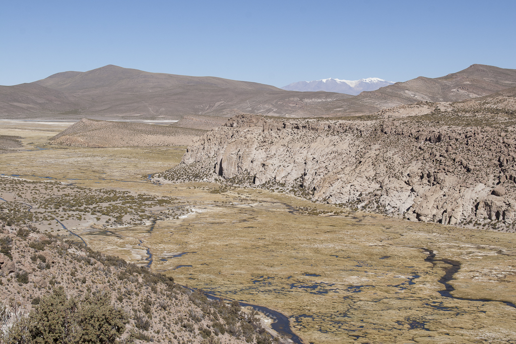
[[[327,91],[357,95],[362,91],[375,91],[380,87],[394,84],[380,78],[366,78],[360,80],[320,79],[313,81],[299,81],[282,87],[287,91],[316,92]]]

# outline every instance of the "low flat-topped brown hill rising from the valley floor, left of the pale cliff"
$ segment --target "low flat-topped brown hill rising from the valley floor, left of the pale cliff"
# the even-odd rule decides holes
[[[82,119],[50,141],[79,147],[172,146],[188,145],[205,132],[169,125]]]

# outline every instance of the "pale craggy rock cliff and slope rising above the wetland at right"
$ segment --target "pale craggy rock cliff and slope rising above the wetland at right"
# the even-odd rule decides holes
[[[291,192],[317,202],[514,231],[514,89],[339,121],[237,116],[155,175]]]

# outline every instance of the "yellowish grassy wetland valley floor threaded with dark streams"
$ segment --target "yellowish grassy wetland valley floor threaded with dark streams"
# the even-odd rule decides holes
[[[307,344],[516,342],[511,233],[410,222],[216,183],[157,185],[148,175],[178,164],[185,147],[49,143],[69,125],[3,121],[0,135],[21,136],[23,148],[0,155],[0,173],[172,200],[168,208],[147,209],[150,215],[185,209],[126,225],[89,211],[80,220],[63,217],[95,250],[278,310]],[[30,186],[32,199],[39,185]],[[0,193],[30,204],[24,193]],[[45,230],[77,239],[59,223]]]

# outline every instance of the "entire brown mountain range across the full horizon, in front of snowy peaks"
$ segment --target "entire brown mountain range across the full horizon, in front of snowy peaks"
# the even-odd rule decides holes
[[[106,65],[88,72],[57,73],[29,84],[0,86],[0,118],[179,120],[186,115],[232,117],[239,113],[342,117],[421,101],[462,101],[514,86],[516,70],[482,64],[356,96]]]

